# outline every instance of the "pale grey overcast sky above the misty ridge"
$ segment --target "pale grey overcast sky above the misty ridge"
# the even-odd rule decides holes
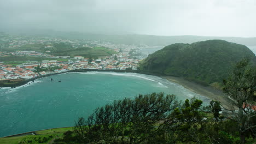
[[[0,30],[256,37],[255,0],[0,0]]]

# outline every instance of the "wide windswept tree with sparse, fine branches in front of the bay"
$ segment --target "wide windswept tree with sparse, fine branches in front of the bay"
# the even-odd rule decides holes
[[[160,122],[177,106],[174,95],[140,94],[99,107],[87,120],[79,118],[74,131],[81,142],[149,143],[162,134]]]

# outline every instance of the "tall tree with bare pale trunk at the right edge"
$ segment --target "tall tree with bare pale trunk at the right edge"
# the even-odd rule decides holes
[[[238,62],[230,77],[224,80],[223,92],[228,95],[231,105],[229,109],[238,123],[240,143],[246,142],[246,135],[256,136],[256,113],[254,107],[254,91],[256,88],[256,68],[249,64],[249,59]],[[238,109],[238,111],[236,111]]]

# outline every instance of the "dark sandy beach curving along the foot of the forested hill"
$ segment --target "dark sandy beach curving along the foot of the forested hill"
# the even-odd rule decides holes
[[[195,82],[184,80],[180,77],[174,77],[174,76],[161,76],[161,77],[163,79],[167,79],[168,81],[178,83],[179,85],[182,85],[183,87],[189,89],[190,91],[203,95],[211,100],[218,100],[220,101],[220,103],[222,103],[224,107],[228,107],[230,105],[228,103],[228,99],[226,98],[226,95],[218,89],[214,89],[213,87],[204,87]]]

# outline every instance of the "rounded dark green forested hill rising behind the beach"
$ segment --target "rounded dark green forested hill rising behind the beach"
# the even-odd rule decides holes
[[[244,45],[207,40],[168,45],[144,59],[139,69],[214,85],[222,83],[234,64],[244,57],[255,59]]]

